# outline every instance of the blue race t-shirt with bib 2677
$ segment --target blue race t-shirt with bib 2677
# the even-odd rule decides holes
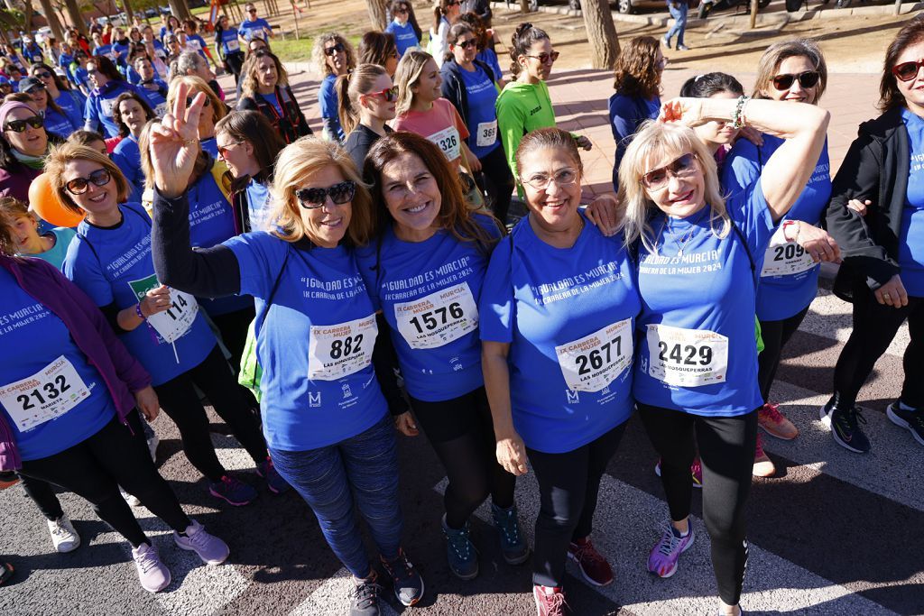
[[[484,277],[480,337],[510,343],[514,427],[527,447],[570,452],[632,412],[634,268],[622,236],[586,220],[571,248],[543,242],[529,216],[511,237]]]

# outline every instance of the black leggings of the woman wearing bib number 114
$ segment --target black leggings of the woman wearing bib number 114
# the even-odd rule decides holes
[[[266,442],[263,441],[257,418],[238,392],[231,369],[215,344],[212,352],[199,366],[154,387],[161,408],[179,429],[183,452],[189,462],[209,481],[218,481],[225,475],[225,467],[218,461],[209,435],[209,417],[205,414],[194,384],[209,398],[215,412],[225,420],[231,433],[254,462],[260,464],[265,460]]]

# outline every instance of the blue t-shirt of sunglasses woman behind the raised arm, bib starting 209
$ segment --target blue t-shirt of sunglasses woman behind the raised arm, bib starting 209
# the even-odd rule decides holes
[[[770,160],[773,152],[783,145],[784,139],[763,135],[763,146],[758,148],[748,139],[738,139],[725,157],[722,172],[722,186],[725,192],[734,194],[747,190]],[[828,159],[828,144],[824,149],[815,172],[808,178],[802,194],[784,220],[803,221],[818,224],[821,213],[831,199],[831,162]],[[792,235],[792,234],[790,234]],[[760,284],[757,289],[757,316],[762,321],[784,320],[808,308],[818,295],[818,274],[821,265],[794,241],[786,241],[781,225],[770,241],[770,246],[755,255],[760,268]]]

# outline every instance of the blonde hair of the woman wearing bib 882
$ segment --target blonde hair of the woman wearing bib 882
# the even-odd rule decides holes
[[[314,241],[301,219],[302,208],[295,191],[304,187],[312,175],[331,165],[337,167],[345,179],[356,184],[346,237],[353,246],[362,246],[369,241],[372,236],[372,201],[356,164],[338,144],[313,136],[293,141],[279,152],[276,159],[273,187],[270,188],[273,210],[269,216],[276,225],[272,232],[274,236],[286,242],[298,242],[304,237]]]

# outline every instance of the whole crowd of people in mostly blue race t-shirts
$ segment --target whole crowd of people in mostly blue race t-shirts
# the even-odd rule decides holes
[[[567,614],[565,562],[613,581],[593,514],[638,412],[668,506],[648,571],[682,565],[701,489],[717,610],[742,613],[751,477],[775,472],[759,429],[798,435],[772,384],[821,261],[854,310],[821,420],[870,451],[857,392],[907,321],[887,415],[924,445],[924,18],[890,44],[881,116],[833,178],[816,42],[771,45],[749,94],[718,72],[665,93],[659,41],[626,42],[614,193],[585,204],[592,144],[556,127],[551,37],[520,24],[505,79],[490,8],[464,4],[435,7],[429,52],[405,0],[358,50],[316,37],[318,134],[253,5],[237,29],[219,20],[215,54],[173,17],[156,35],[93,30],[91,49],[68,37],[56,58],[30,49],[0,105],[0,339],[17,349],[0,354],[0,470],[55,550],[80,543],[56,486],[131,544],[146,590],[171,576],[130,504],[225,561],[154,465],[163,409],[217,501],[248,505],[261,482],[308,503],[354,578],[351,616],[379,614],[383,586],[411,606],[425,586],[397,433],[422,432],[448,479],[434,515],[449,570],[480,574],[470,518],[490,497],[505,562],[531,560],[537,613]],[[252,475],[216,456],[202,394]],[[531,546],[515,498],[529,472]]]

